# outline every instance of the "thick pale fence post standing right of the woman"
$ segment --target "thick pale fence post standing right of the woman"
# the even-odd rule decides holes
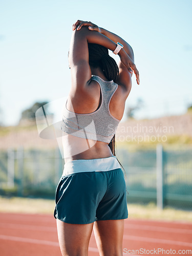
[[[163,209],[163,146],[157,144],[156,148],[156,168],[157,168],[157,207]]]

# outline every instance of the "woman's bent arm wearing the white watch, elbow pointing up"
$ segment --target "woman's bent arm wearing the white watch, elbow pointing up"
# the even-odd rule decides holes
[[[114,51],[116,48],[116,43],[113,40],[97,31],[90,31],[87,27],[73,31],[69,63],[72,74],[72,87],[76,90],[86,87],[91,79],[88,43],[102,45],[111,51]],[[123,49],[118,54],[125,67],[130,69],[133,63],[130,57]]]

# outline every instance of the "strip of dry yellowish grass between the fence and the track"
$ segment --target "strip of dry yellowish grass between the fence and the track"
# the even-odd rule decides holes
[[[53,215],[54,207],[54,200],[0,197],[0,212]],[[128,204],[127,207],[130,219],[192,222],[192,211],[173,208],[161,210],[154,203],[146,205]]]

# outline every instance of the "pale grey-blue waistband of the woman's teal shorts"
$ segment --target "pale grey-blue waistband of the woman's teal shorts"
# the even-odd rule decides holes
[[[116,156],[98,159],[78,159],[64,165],[62,176],[84,172],[106,172],[121,168]]]

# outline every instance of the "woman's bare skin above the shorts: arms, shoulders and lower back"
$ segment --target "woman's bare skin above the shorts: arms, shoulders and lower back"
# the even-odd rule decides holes
[[[92,29],[90,30],[90,26]],[[89,51],[88,42],[100,44],[111,51],[116,48],[116,42],[119,41],[123,44],[123,49],[118,53],[120,61],[119,77],[115,81],[118,84],[118,89],[110,101],[110,112],[116,119],[121,120],[124,112],[125,101],[131,91],[132,87],[132,74],[133,70],[136,74],[137,82],[139,83],[139,72],[134,64],[133,49],[121,37],[103,29],[90,22],[82,22],[77,20],[73,25],[73,34],[69,52],[69,65],[72,76],[72,87],[68,97],[67,108],[68,110],[87,114],[92,113],[98,109],[101,102],[100,86],[91,80],[91,75],[98,75],[103,80],[107,80],[103,71],[100,68],[93,68],[89,65]],[[132,69],[131,69],[132,67]],[[112,156],[108,143],[101,141],[90,141],[74,136],[64,136],[63,144],[74,145],[71,152],[65,155],[65,162],[76,159],[94,159],[105,158]],[[77,150],[77,146],[87,150]],[[74,148],[74,152],[73,152]],[[65,150],[64,150],[65,152]]]

